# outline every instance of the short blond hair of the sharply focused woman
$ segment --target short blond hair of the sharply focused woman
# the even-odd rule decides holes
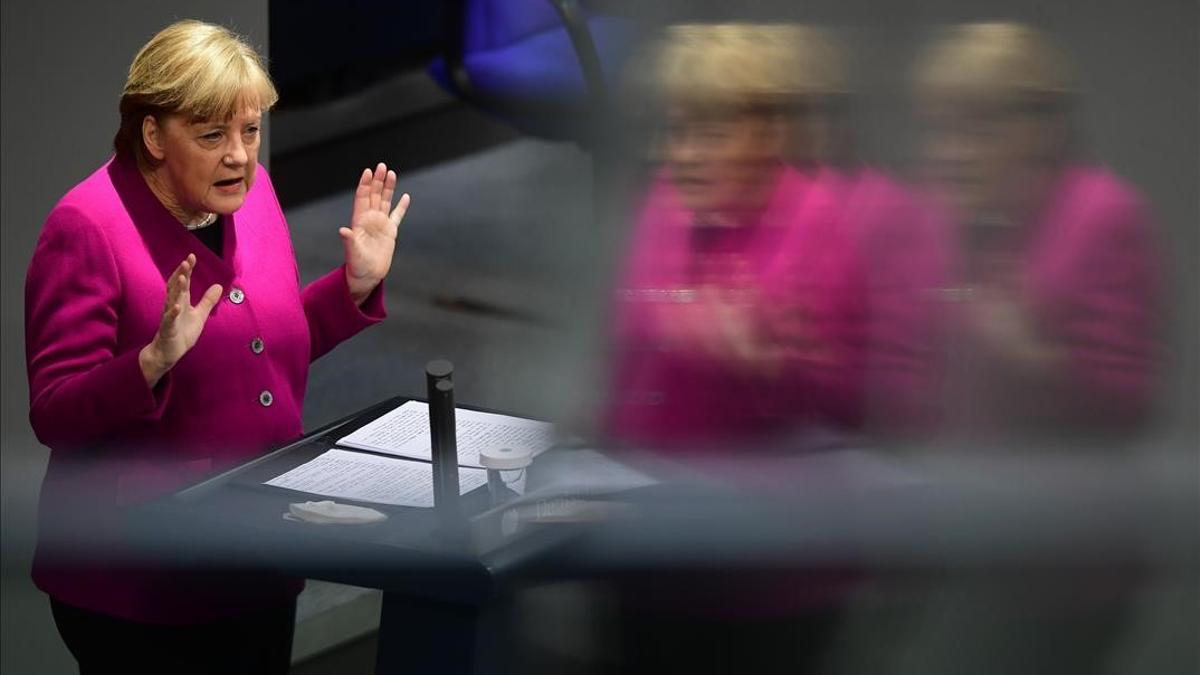
[[[263,60],[233,31],[198,20],[170,24],[133,58],[121,91],[118,156],[152,166],[142,141],[142,120],[169,114],[224,120],[247,108],[268,110],[278,100]]]

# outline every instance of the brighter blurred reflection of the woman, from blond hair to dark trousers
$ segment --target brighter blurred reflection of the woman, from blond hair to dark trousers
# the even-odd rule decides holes
[[[744,24],[667,31],[656,70],[665,166],[618,293],[606,430],[619,444],[702,466],[701,453],[746,456],[797,428],[860,424],[857,249],[821,167],[786,162],[803,131],[793,110],[812,91],[806,35]],[[764,489],[793,494],[784,473]],[[634,580],[620,596],[628,665],[805,671],[851,581],[782,567]]]

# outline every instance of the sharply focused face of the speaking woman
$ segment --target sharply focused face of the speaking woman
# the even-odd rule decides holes
[[[152,118],[150,118],[152,120]],[[241,208],[254,184],[263,114],[247,108],[227,120],[168,115],[146,138],[166,187],[188,213],[227,215]]]

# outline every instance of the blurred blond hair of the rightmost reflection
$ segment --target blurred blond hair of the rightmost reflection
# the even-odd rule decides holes
[[[1062,103],[1076,86],[1066,55],[1020,23],[977,23],[944,31],[917,64],[923,97],[980,103]]]

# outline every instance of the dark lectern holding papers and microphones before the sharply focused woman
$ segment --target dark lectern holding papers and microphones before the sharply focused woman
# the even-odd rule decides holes
[[[462,496],[467,526],[456,532],[443,527],[431,508],[350,500],[338,501],[368,506],[388,514],[388,520],[314,525],[287,520],[283,514],[290,503],[325,497],[263,484],[407,400],[382,401],[258,459],[136,507],[131,526],[137,537],[168,555],[221,565],[235,561],[299,578],[380,589],[379,675],[492,671],[496,665],[488,662],[505,644],[498,614],[508,590],[569,540],[571,527],[500,536],[500,512],[491,509],[486,485]]]

